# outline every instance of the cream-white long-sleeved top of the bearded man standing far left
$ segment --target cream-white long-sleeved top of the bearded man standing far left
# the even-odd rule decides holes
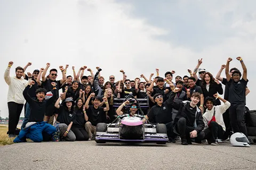
[[[24,104],[23,90],[28,85],[28,81],[23,77],[17,79],[16,77],[10,77],[10,67],[4,72],[4,80],[9,85],[7,102],[13,101],[18,104]]]

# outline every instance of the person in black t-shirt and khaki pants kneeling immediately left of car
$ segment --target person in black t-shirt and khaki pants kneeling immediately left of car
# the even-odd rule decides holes
[[[87,122],[85,123],[85,130],[88,132],[89,134],[89,140],[94,139],[93,138],[93,134],[95,137],[95,133],[96,133],[96,126],[98,123],[105,123],[107,121],[107,116],[106,113],[107,111],[109,111],[109,105],[108,105],[108,100],[106,97],[103,97],[103,101],[106,104],[106,107],[100,107],[100,100],[101,98],[99,96],[94,97],[95,94],[91,93],[91,95],[89,96],[89,98],[86,100],[85,103],[85,113],[86,116],[88,117],[88,119],[86,120]],[[91,100],[91,98],[93,97],[92,101],[93,101],[93,106],[89,106],[89,102]]]

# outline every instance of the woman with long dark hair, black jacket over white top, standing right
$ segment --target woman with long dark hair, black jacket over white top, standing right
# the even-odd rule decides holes
[[[208,96],[213,96],[214,94],[223,94],[223,89],[221,86],[221,83],[217,80],[214,79],[212,74],[209,72],[206,72],[202,78],[202,84],[201,84],[201,88],[203,90],[203,95],[204,98],[208,97]],[[216,99],[216,104],[220,105],[220,100]]]

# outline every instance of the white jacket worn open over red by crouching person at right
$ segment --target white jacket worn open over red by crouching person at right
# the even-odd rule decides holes
[[[230,103],[229,101],[226,101],[226,103],[218,105],[218,106],[213,106],[211,111],[209,111],[208,109],[206,109],[206,112],[203,115],[203,119],[204,119],[204,129],[208,128],[208,122],[211,121],[212,116],[213,116],[213,112],[214,112],[214,108],[215,108],[215,120],[216,122],[222,126],[223,130],[226,131],[226,126],[225,123],[223,121],[223,116],[222,114],[226,112],[226,110],[229,108]]]

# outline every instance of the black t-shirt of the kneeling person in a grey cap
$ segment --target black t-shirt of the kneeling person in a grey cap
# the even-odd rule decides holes
[[[70,122],[74,122],[76,119],[76,113],[74,111],[68,111],[65,106],[60,105],[57,121],[69,125]]]

